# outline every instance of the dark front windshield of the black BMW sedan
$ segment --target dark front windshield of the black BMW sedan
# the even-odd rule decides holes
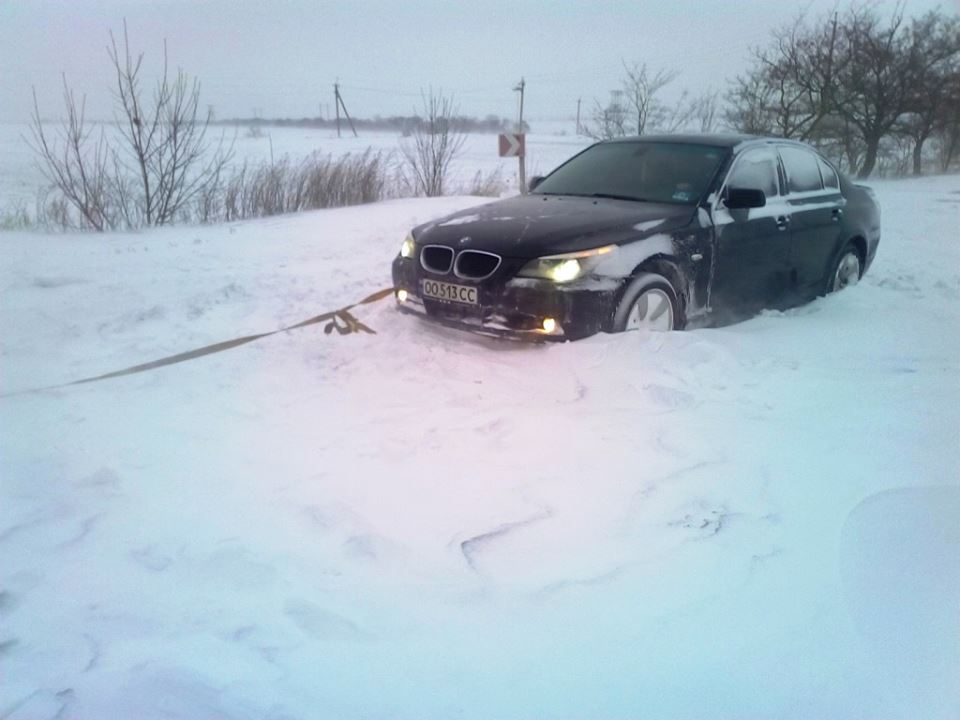
[[[557,168],[534,193],[693,205],[707,190],[725,153],[710,145],[600,143]]]

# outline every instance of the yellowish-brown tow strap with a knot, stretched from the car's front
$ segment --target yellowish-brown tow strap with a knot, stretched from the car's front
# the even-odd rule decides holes
[[[260,340],[261,338],[270,337],[271,335],[277,335],[278,333],[288,332],[290,330],[296,330],[298,328],[307,327],[308,325],[316,325],[317,323],[322,322],[327,323],[323,328],[323,332],[326,335],[330,335],[334,331],[336,331],[338,335],[349,335],[350,333],[358,332],[376,335],[376,332],[372,328],[357,320],[357,318],[354,317],[350,311],[355,307],[359,307],[360,305],[370,305],[383,300],[383,298],[392,294],[392,287],[384,288],[383,290],[378,290],[372,295],[368,295],[363,300],[355,302],[352,305],[347,305],[339,310],[332,310],[320,315],[315,315],[312,318],[298,322],[295,325],[288,325],[287,327],[280,328],[279,330],[257,333],[256,335],[246,335],[245,337],[234,338],[233,340],[224,340],[223,342],[214,343],[213,345],[207,345],[195,350],[177,353],[176,355],[170,355],[169,357],[160,358],[159,360],[153,360],[148,363],[142,363],[140,365],[124,368],[123,370],[115,370],[113,372],[104,373],[103,375],[96,375],[93,377],[83,378],[81,380],[74,380],[73,382],[61,383],[60,385],[48,385],[46,387],[18,390],[12,393],[3,393],[0,394],[0,398],[8,398],[15,395],[27,395],[29,393],[43,392],[45,390],[58,390],[60,388],[71,387],[72,385],[83,385],[85,383],[98,382],[100,380],[109,380],[110,378],[122,377],[123,375],[135,375],[137,373],[146,372],[147,370],[154,370],[166,365],[176,365],[177,363],[193,360],[194,358],[203,357],[204,355],[213,355],[214,353],[223,352],[224,350],[230,350],[241,345],[246,345],[254,340]]]

